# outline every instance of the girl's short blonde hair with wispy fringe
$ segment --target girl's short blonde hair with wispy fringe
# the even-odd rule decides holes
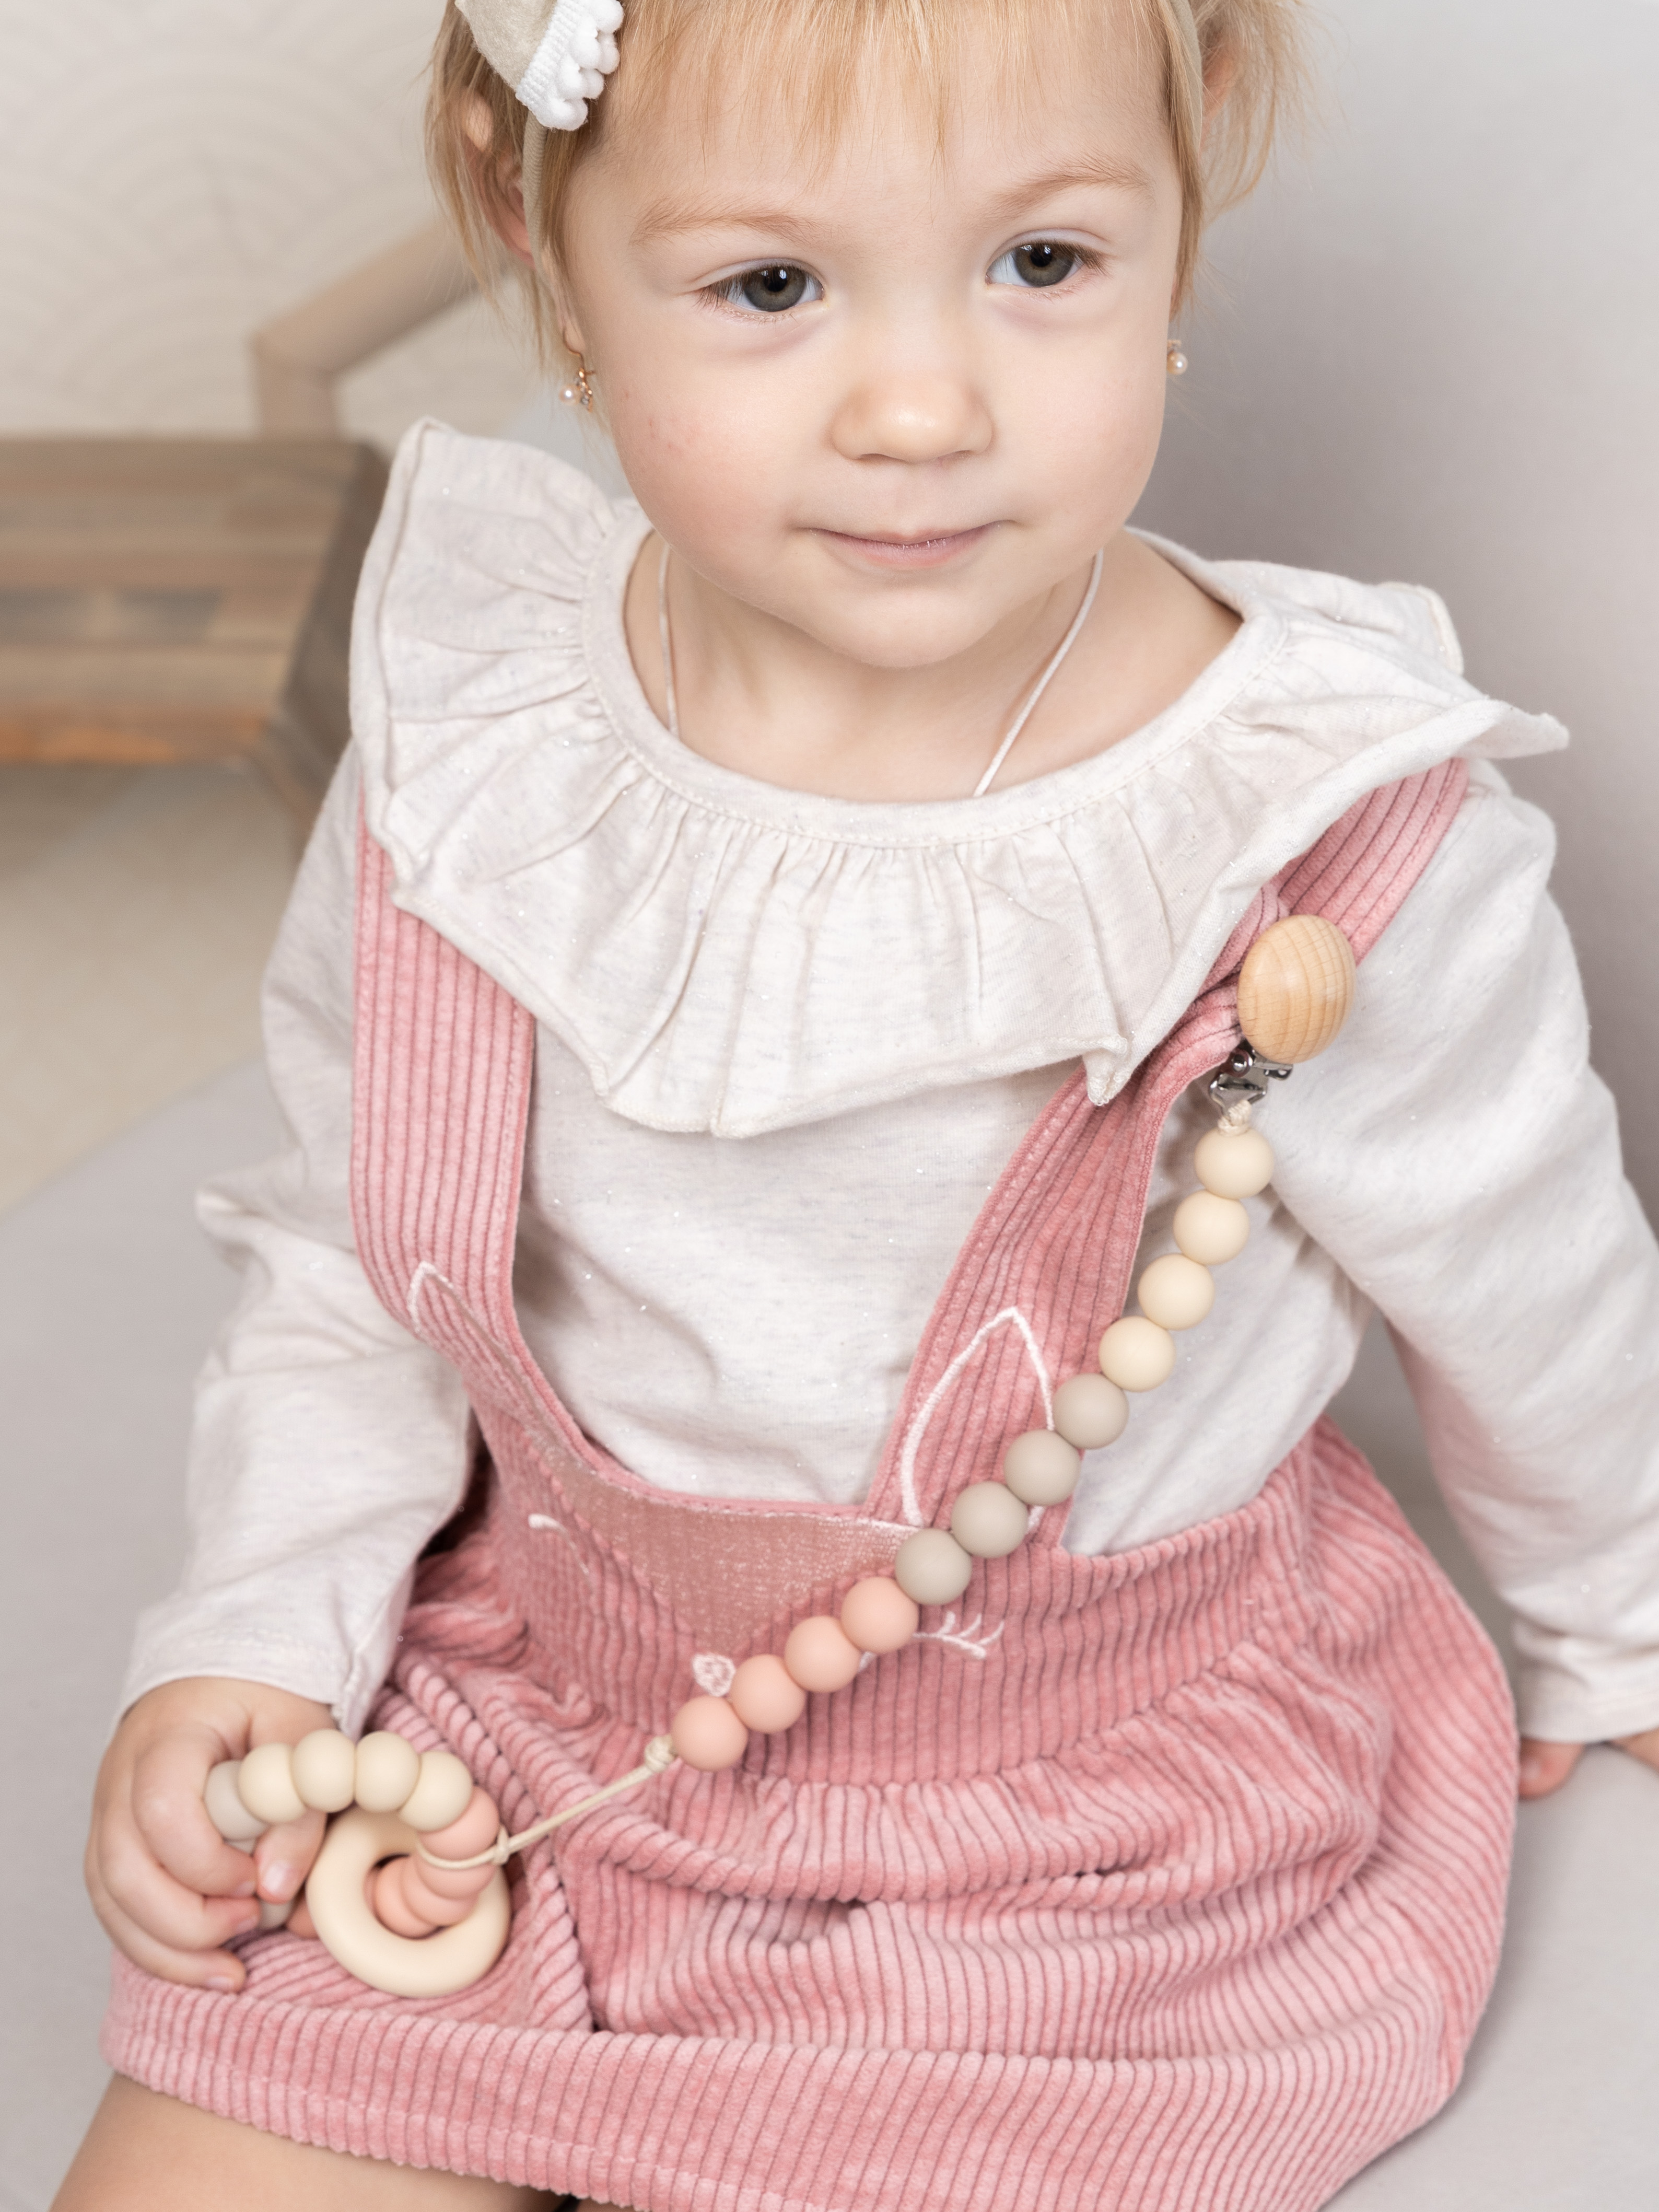
[[[1261,179],[1285,119],[1305,97],[1303,0],[628,0],[622,71],[580,131],[551,131],[540,164],[531,234],[557,265],[562,208],[577,164],[604,142],[617,91],[628,104],[706,97],[723,91],[717,64],[730,53],[799,55],[801,119],[834,133],[872,46],[907,66],[914,84],[947,97],[951,46],[964,31],[991,31],[1006,49],[1004,82],[1033,82],[1040,42],[1055,18],[1077,29],[1108,11],[1150,42],[1164,86],[1164,117],[1181,181],[1177,303],[1192,290],[1206,223],[1237,206]],[[768,82],[779,84],[781,73]],[[513,88],[473,44],[467,18],[447,0],[431,62],[427,157],[440,199],[473,268],[500,270],[495,223],[513,210],[524,157],[524,119]],[[531,319],[546,354],[560,352],[553,303],[533,285]]]

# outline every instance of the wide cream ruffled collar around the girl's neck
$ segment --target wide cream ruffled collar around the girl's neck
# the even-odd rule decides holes
[[[1243,626],[1157,721],[984,799],[787,792],[650,712],[622,633],[644,533],[546,453],[416,425],[352,719],[398,905],[646,1128],[750,1137],[1075,1057],[1104,1102],[1367,790],[1566,741],[1462,681],[1429,591],[1159,544]]]

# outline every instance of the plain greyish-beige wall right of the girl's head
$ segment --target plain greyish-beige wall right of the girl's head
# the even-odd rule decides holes
[[[1323,15],[1323,137],[1217,232],[1141,520],[1429,582],[1473,679],[1571,726],[1515,781],[1659,1219],[1659,7]]]

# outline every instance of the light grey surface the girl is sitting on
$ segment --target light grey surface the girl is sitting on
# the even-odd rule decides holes
[[[0,1772],[31,1803],[0,1885],[4,2212],[44,2212],[104,2081],[84,1805],[133,1613],[179,1555],[188,1385],[230,1292],[190,1192],[270,1141],[263,1079],[237,1068],[0,1214]],[[1380,1334],[1338,1411],[1493,1619]],[[1595,1752],[1522,1812],[1504,1966],[1462,2090],[1336,2205],[1655,2212],[1657,2090],[1659,1781]]]

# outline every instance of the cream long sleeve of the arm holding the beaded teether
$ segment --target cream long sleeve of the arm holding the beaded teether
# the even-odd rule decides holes
[[[347,754],[265,975],[288,1141],[201,1194],[243,1290],[197,1385],[184,1579],[139,1624],[124,1703],[234,1674],[361,1728],[414,1562],[465,1489],[460,1380],[385,1312],[352,1239],[356,810]]]

